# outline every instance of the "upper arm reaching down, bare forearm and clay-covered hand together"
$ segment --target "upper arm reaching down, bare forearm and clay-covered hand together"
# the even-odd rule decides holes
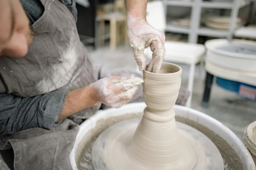
[[[146,21],[147,0],[125,0],[127,33],[139,71],[158,73],[165,57],[165,35]],[[144,49],[150,46],[152,60],[147,66]],[[147,67],[147,68],[146,68]]]

